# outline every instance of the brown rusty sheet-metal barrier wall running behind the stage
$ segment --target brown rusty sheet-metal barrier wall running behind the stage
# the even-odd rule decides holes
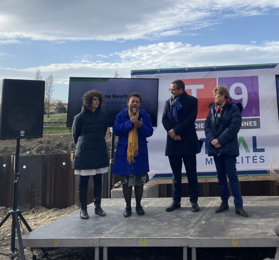
[[[108,155],[109,158],[109,155]],[[74,154],[50,154],[19,157],[18,206],[22,212],[35,206],[66,208],[79,204],[79,176],[74,175]],[[0,156],[0,206],[11,207],[13,197],[14,156]],[[119,175],[113,176],[113,183]],[[93,178],[88,183],[88,203],[92,203]],[[241,181],[243,196],[277,196],[276,181]],[[103,198],[108,198],[108,173],[103,174]],[[218,183],[199,183],[201,197],[220,196]],[[171,197],[172,184],[159,184],[159,197]],[[182,184],[182,196],[189,196],[188,183]]]

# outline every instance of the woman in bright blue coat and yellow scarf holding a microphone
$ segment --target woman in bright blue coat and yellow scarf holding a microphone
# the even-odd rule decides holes
[[[117,114],[113,133],[118,136],[114,156],[113,173],[120,174],[126,207],[124,217],[132,213],[131,198],[134,186],[136,212],[143,215],[141,206],[143,185],[149,181],[149,163],[146,138],[153,134],[149,114],[141,109],[141,95],[133,92],[128,96],[128,108]]]

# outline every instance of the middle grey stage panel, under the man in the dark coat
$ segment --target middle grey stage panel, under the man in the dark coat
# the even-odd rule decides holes
[[[112,229],[100,238],[100,246],[188,246],[189,235],[217,199],[199,199],[200,211],[195,213],[191,211],[189,198],[182,198],[181,208],[172,212],[165,211],[165,207],[172,201],[171,198],[153,198],[148,204],[142,200],[145,215],[138,216],[135,210],[132,210],[131,217],[124,219],[116,230]]]

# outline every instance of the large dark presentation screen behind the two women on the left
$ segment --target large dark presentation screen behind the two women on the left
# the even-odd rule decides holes
[[[72,127],[74,116],[81,112],[83,94],[93,89],[105,95],[102,110],[108,113],[109,127],[113,127],[116,115],[127,108],[127,98],[132,92],[141,95],[141,108],[150,115],[152,126],[157,127],[158,79],[84,77],[70,77],[67,127]]]

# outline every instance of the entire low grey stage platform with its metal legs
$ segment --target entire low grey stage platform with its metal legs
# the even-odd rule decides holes
[[[132,206],[132,216],[123,217],[124,199],[103,199],[102,208],[107,216],[94,214],[94,205],[88,205],[88,220],[82,220],[79,210],[50,224],[23,235],[24,247],[95,247],[95,260],[99,247],[103,259],[108,247],[183,247],[196,259],[196,248],[201,247],[274,247],[279,248],[279,237],[274,226],[279,221],[279,197],[243,197],[249,218],[234,212],[233,198],[229,210],[216,214],[221,203],[217,197],[199,198],[199,212],[191,212],[189,198],[182,198],[181,208],[165,212],[171,198],[145,198],[144,216],[138,216]],[[132,200],[134,205],[135,200]],[[132,232],[131,232],[132,230]]]

